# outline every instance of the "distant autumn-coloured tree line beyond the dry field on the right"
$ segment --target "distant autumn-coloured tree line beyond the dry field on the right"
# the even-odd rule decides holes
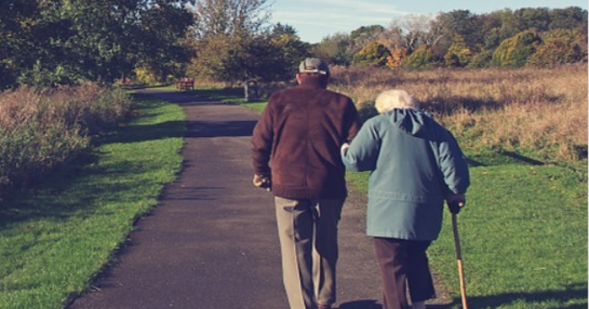
[[[587,61],[587,10],[468,10],[406,15],[385,28],[362,26],[315,46],[335,64],[390,68],[550,66]]]

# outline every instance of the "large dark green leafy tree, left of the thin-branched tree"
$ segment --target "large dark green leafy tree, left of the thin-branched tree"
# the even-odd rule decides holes
[[[166,71],[177,58],[181,38],[192,19],[184,0],[64,1],[59,12],[72,21],[75,34],[59,45],[82,65],[85,77],[110,82],[135,64]],[[161,73],[164,74],[164,73]]]

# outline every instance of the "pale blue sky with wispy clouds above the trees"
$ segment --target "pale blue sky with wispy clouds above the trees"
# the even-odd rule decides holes
[[[407,14],[436,15],[455,9],[468,9],[474,14],[499,9],[566,8],[587,9],[587,0],[272,0],[267,4],[272,23],[287,24],[297,30],[302,41],[316,43],[337,32],[349,34],[360,26],[388,27],[395,18]]]

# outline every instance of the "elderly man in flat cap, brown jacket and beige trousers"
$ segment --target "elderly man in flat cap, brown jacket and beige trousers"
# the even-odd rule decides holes
[[[296,78],[297,87],[270,97],[254,128],[253,182],[274,194],[290,308],[330,308],[337,224],[347,196],[339,149],[361,124],[352,100],[326,89],[325,62],[305,59]]]

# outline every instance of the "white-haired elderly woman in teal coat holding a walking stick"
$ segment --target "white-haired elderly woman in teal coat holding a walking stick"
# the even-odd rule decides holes
[[[382,92],[350,144],[348,170],[371,171],[366,233],[374,238],[383,285],[383,309],[412,308],[435,298],[426,250],[441,230],[444,200],[464,206],[468,164],[454,136],[403,90]]]

